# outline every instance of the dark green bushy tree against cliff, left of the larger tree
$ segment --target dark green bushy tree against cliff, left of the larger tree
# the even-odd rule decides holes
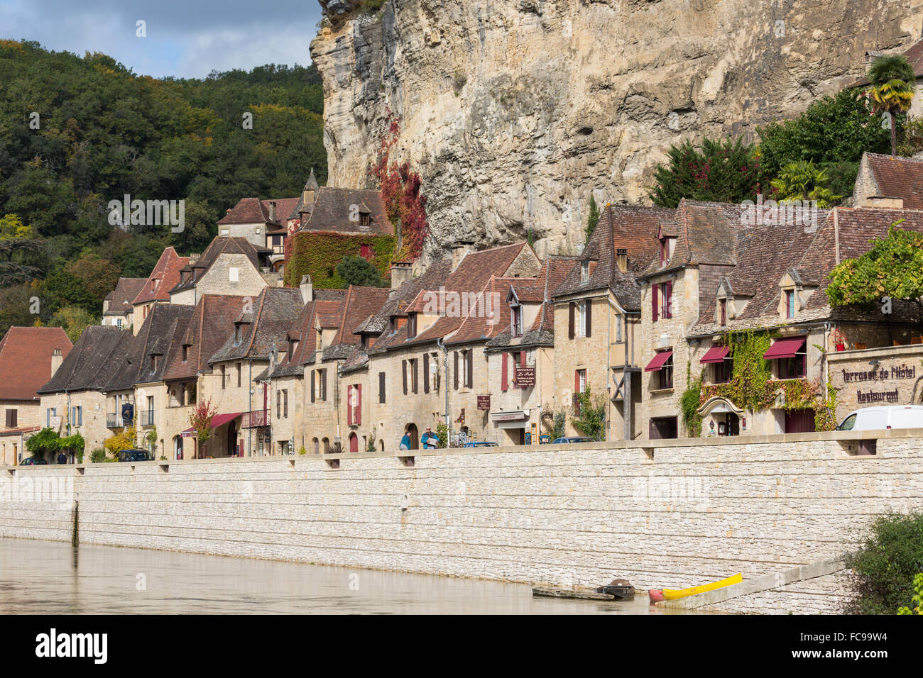
[[[756,148],[740,138],[703,139],[698,147],[684,141],[667,151],[666,164],[654,170],[648,194],[653,204],[676,208],[682,198],[739,203],[760,193],[760,159]]]

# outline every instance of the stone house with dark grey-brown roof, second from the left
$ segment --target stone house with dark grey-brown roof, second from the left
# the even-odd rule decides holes
[[[51,379],[38,390],[43,412],[40,425],[62,436],[79,433],[88,457],[92,450],[101,448],[102,441],[110,436],[103,389],[121,366],[133,339],[130,332],[118,327],[87,327]]]

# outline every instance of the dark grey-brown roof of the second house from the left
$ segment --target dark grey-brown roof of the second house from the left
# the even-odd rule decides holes
[[[83,330],[64,363],[39,393],[102,390],[121,366],[121,358],[135,339],[114,326],[90,325]]]

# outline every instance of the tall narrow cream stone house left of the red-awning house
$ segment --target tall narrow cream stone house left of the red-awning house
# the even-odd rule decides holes
[[[641,287],[635,280],[659,250],[657,233],[675,210],[607,205],[581,256],[553,292],[555,397],[549,414],[574,424],[577,395],[605,403],[605,439],[641,433]]]

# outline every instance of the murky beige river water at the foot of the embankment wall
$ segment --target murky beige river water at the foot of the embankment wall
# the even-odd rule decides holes
[[[656,614],[528,586],[58,541],[0,539],[0,614]]]

